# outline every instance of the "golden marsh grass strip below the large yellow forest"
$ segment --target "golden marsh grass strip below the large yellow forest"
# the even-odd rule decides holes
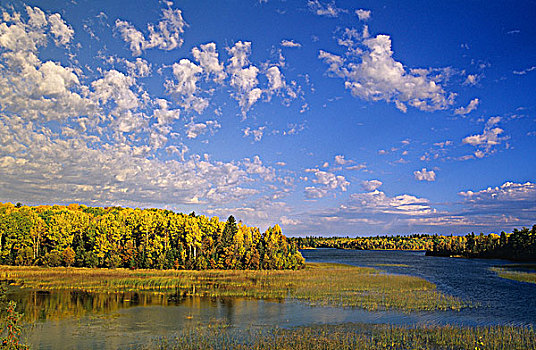
[[[367,267],[308,263],[290,270],[127,270],[0,267],[0,279],[31,290],[144,292],[180,297],[299,300],[365,310],[459,310],[461,300],[422,278]]]

